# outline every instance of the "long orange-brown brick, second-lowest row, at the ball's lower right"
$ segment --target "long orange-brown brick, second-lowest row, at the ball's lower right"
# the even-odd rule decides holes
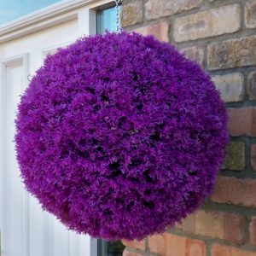
[[[241,244],[245,235],[245,218],[227,212],[198,211],[185,218],[176,228]]]

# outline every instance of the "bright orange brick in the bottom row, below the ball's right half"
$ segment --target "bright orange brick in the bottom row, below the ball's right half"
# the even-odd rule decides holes
[[[203,241],[168,233],[150,236],[148,247],[151,253],[159,253],[161,256],[206,256]]]

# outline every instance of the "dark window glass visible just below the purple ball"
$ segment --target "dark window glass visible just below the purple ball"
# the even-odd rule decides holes
[[[122,256],[125,246],[122,241],[103,241],[98,240],[97,256]]]

